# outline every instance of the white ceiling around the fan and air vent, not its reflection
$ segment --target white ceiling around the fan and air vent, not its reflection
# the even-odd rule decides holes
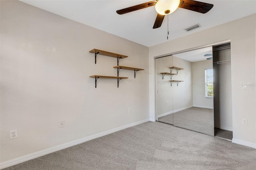
[[[214,7],[206,14],[178,8],[169,15],[167,40],[167,16],[160,28],[152,29],[157,16],[154,6],[123,15],[116,13],[151,0],[20,1],[148,47],[256,13],[256,0],[199,0]],[[184,30],[195,24],[202,27]]]

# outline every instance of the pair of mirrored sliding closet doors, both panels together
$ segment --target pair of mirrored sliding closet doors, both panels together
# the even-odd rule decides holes
[[[156,120],[214,135],[212,47],[156,58],[155,70]]]

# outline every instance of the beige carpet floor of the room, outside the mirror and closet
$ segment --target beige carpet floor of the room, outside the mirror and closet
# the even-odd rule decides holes
[[[147,122],[5,170],[255,170],[256,149]]]

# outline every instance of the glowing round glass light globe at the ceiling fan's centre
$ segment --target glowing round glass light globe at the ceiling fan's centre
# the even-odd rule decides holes
[[[168,15],[174,12],[180,4],[180,0],[158,0],[155,8],[160,15]]]

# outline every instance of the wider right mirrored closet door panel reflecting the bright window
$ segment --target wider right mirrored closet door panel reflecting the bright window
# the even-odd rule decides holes
[[[183,68],[172,86],[173,125],[214,135],[212,47],[175,54],[172,63]]]

